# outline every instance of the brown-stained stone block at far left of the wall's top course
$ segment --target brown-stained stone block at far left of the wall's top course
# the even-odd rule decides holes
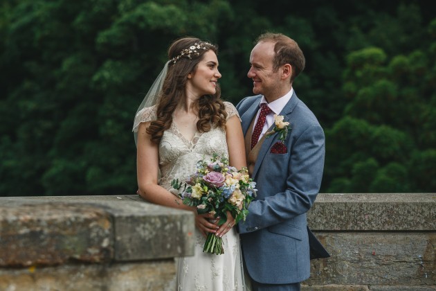
[[[55,265],[113,257],[111,218],[83,204],[50,202],[0,205],[0,266]]]

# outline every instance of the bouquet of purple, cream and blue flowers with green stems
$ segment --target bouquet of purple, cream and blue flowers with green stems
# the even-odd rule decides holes
[[[179,179],[172,181],[183,204],[197,207],[198,213],[214,213],[218,224],[226,222],[230,211],[235,222],[245,220],[248,204],[254,199],[256,183],[248,177],[247,168],[237,170],[229,166],[228,159],[214,154],[210,161],[197,162],[197,171],[182,186]],[[222,238],[208,233],[203,252],[224,254]]]

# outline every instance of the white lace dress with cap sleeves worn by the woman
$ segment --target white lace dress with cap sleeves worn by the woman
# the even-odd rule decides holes
[[[231,103],[224,104],[228,118],[237,115]],[[142,109],[136,115],[134,131],[138,131],[139,123],[153,120],[156,120],[156,106]],[[159,184],[170,191],[172,179],[184,181],[194,173],[200,159],[208,159],[214,152],[228,157],[226,131],[212,127],[209,132],[197,132],[192,141],[188,141],[173,122],[170,129],[163,133],[158,150],[161,171]],[[178,260],[177,290],[245,290],[239,235],[235,227],[223,236],[222,255],[203,253],[205,240],[196,228],[194,256]]]

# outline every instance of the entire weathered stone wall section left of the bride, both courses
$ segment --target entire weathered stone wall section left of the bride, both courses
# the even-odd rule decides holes
[[[0,198],[0,290],[174,290],[194,215],[138,195]]]

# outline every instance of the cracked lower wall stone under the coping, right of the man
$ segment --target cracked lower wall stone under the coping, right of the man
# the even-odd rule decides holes
[[[435,232],[316,232],[330,258],[311,261],[309,285],[436,285]]]

